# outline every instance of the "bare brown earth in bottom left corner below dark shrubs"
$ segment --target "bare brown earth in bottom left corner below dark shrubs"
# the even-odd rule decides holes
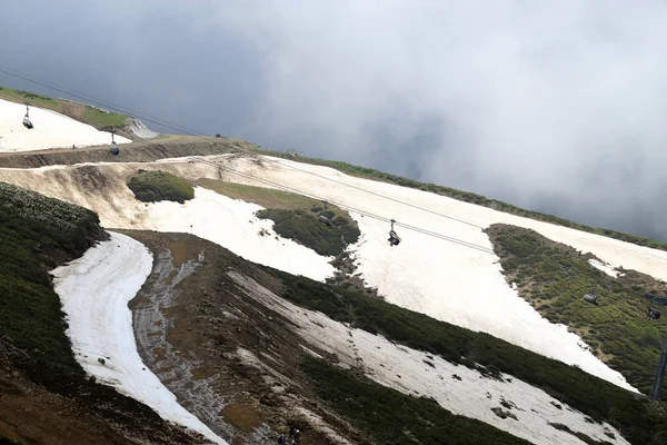
[[[74,392],[59,394],[34,384],[7,365],[20,354],[12,349],[0,342],[0,437],[44,445],[203,443],[113,388],[76,382]]]

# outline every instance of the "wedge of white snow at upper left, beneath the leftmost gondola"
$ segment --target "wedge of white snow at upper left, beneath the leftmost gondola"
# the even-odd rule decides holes
[[[0,152],[81,148],[111,144],[111,134],[81,123],[68,116],[30,107],[32,129],[23,127],[26,106],[0,99]],[[131,142],[116,136],[117,144]]]

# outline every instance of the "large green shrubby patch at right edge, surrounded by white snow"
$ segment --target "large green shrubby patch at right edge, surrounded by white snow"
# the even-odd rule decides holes
[[[650,390],[667,325],[647,318],[656,303],[645,294],[664,295],[664,284],[633,270],[610,277],[588,263],[590,256],[530,229],[492,225],[486,231],[519,295],[549,322],[570,326],[637,389]],[[583,298],[594,286],[597,305]]]

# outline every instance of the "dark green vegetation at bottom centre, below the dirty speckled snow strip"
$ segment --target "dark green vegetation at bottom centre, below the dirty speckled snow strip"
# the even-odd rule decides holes
[[[375,444],[529,444],[484,422],[455,415],[426,397],[411,397],[366,377],[305,356],[301,369],[316,394]]]

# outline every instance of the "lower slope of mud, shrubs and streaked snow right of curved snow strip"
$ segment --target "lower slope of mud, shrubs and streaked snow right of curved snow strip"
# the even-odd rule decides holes
[[[624,439],[606,419],[629,443],[658,441],[666,426],[651,404],[631,393],[488,335],[258,267],[190,235],[126,234],[159,258],[133,305],[142,357],[211,427],[220,422],[211,414],[220,412],[250,436],[265,424],[277,431],[299,425],[307,432],[303,444],[344,443],[345,437],[384,444],[391,435],[402,437],[400,429],[421,443],[444,443],[452,435],[460,443],[496,437],[470,423],[476,418],[531,443],[578,444],[548,423],[609,443]],[[336,367],[349,370],[340,374]],[[416,399],[402,399],[387,387]],[[359,397],[357,390],[367,395]],[[350,397],[356,402],[346,406]],[[438,412],[431,398],[468,419]],[[377,404],[384,404],[382,415],[374,417]],[[235,416],[238,408],[245,417]],[[426,411],[419,415],[420,409]],[[439,414],[430,417],[430,411]],[[507,413],[517,419],[499,417]],[[458,434],[445,433],[448,425],[458,425]],[[334,436],[321,436],[327,429]],[[239,432],[235,437],[248,439]]]

